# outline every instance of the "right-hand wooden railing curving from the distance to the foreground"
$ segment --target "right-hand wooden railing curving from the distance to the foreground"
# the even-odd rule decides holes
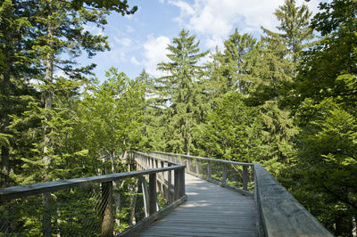
[[[188,174],[242,192],[248,197],[254,196],[259,217],[257,223],[259,236],[333,236],[260,164],[161,151],[148,153],[161,159],[185,164]],[[193,163],[195,163],[194,168]],[[216,163],[215,171],[212,170],[213,163]],[[233,176],[239,177],[238,181],[235,182],[231,176],[228,176],[229,166],[236,167]],[[241,168],[237,168],[239,166]]]

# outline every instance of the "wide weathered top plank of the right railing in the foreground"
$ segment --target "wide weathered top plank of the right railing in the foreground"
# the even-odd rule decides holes
[[[266,236],[333,236],[262,165],[254,174]]]

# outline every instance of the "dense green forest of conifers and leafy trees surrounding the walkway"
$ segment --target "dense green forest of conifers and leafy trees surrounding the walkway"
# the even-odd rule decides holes
[[[81,54],[110,50],[83,26],[137,7],[1,1],[0,187],[124,171],[127,150],[261,163],[331,233],[355,236],[357,1],[312,15],[286,0],[277,29],[236,29],[215,52],[182,29],[162,78],[79,67]]]

